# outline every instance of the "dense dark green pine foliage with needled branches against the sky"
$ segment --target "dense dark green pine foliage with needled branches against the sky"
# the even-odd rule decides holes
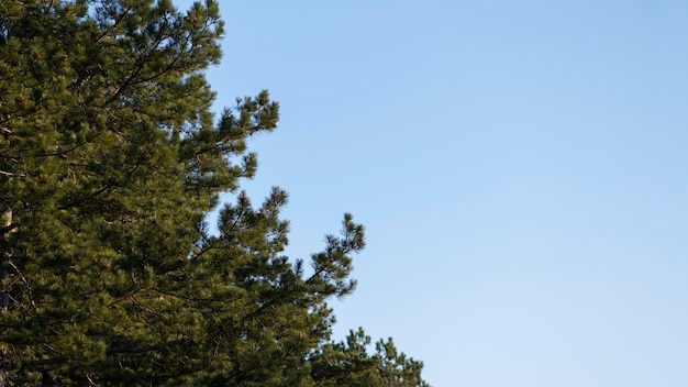
[[[306,268],[281,255],[287,194],[238,191],[279,107],[213,122],[222,33],[212,0],[0,2],[0,386],[424,385],[391,340],[330,342],[363,226]]]

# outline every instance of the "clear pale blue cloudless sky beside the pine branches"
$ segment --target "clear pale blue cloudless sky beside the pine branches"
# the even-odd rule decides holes
[[[176,1],[187,8],[190,1]],[[364,327],[433,386],[688,385],[688,2],[221,1],[287,254],[351,211]]]

